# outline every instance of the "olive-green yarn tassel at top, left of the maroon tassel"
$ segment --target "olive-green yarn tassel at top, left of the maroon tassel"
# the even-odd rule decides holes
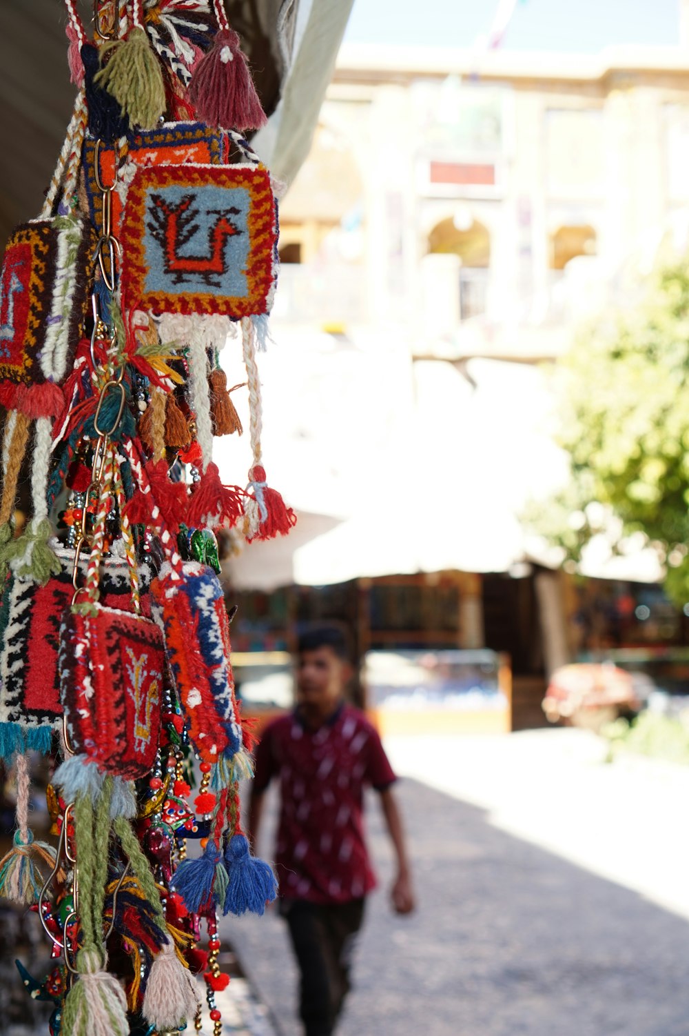
[[[107,54],[110,59],[96,73],[94,82],[117,100],[130,122],[153,130],[164,114],[166,87],[146,31],[136,27],[126,39],[106,44],[100,49],[101,62]]]

